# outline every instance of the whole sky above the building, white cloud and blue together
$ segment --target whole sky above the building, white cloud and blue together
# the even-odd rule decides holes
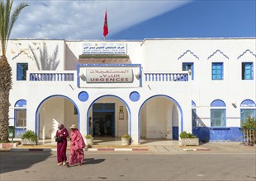
[[[11,38],[256,37],[256,0],[14,0],[27,2]]]

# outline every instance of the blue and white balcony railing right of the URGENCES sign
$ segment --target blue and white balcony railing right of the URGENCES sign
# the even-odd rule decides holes
[[[145,81],[188,81],[188,73],[145,73]]]

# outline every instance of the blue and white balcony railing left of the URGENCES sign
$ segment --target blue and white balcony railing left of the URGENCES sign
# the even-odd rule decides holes
[[[30,73],[30,81],[73,81],[73,73]]]

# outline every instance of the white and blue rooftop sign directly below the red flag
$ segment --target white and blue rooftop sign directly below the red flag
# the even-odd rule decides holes
[[[83,54],[126,54],[126,44],[123,43],[83,43]]]

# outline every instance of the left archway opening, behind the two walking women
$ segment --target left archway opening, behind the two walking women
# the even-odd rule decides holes
[[[64,123],[68,130],[73,123],[79,128],[79,109],[69,97],[51,95],[42,100],[36,109],[36,134],[39,139],[53,139],[59,123]]]

